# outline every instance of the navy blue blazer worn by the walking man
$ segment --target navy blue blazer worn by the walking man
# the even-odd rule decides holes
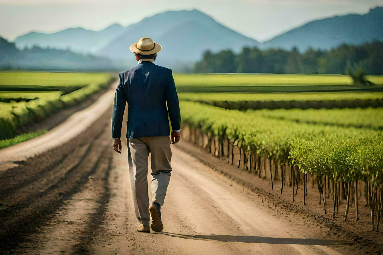
[[[119,83],[112,112],[112,138],[121,136],[126,102],[126,137],[168,136],[168,116],[172,129],[180,130],[180,106],[172,70],[143,61],[119,73],[118,76]]]

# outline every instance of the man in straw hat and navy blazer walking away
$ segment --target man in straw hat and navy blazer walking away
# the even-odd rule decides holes
[[[119,73],[112,113],[113,148],[121,153],[121,125],[128,102],[128,156],[129,174],[136,216],[140,223],[137,231],[161,232],[161,206],[164,204],[172,167],[170,159],[170,128],[172,143],[180,140],[180,107],[172,70],[154,64],[161,45],[143,37],[129,47],[138,64]],[[152,205],[149,207],[147,190],[148,157],[151,153]],[[148,210],[149,208],[149,210]]]

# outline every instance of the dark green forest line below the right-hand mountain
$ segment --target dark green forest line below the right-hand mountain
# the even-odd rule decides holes
[[[323,51],[312,48],[300,53],[296,48],[260,50],[244,47],[235,54],[223,50],[206,51],[194,66],[196,73],[366,73],[383,75],[383,42],[359,46],[341,45]]]

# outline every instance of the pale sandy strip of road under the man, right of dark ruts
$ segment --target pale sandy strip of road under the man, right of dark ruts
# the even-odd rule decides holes
[[[93,254],[339,254],[326,246],[319,249],[316,245],[273,243],[278,239],[275,237],[295,237],[300,242],[305,239],[301,235],[304,232],[284,218],[275,218],[254,197],[243,193],[243,187],[177,147],[172,147],[173,172],[162,208],[164,231],[168,233],[139,233],[125,148],[123,141],[123,154],[113,153],[111,198],[105,221],[90,243]],[[206,240],[198,234],[226,235],[238,241]],[[180,238],[182,235],[197,236]],[[257,242],[257,237],[270,240]],[[254,242],[241,241],[246,238]]]

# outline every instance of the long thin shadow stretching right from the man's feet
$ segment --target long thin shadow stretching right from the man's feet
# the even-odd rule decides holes
[[[349,240],[327,240],[327,239],[305,239],[305,238],[280,238],[280,237],[263,237],[263,236],[190,236],[183,234],[175,234],[169,232],[155,232],[155,234],[163,234],[172,237],[198,240],[216,240],[221,242],[241,242],[241,243],[259,243],[259,244],[303,244],[303,245],[350,245]]]

